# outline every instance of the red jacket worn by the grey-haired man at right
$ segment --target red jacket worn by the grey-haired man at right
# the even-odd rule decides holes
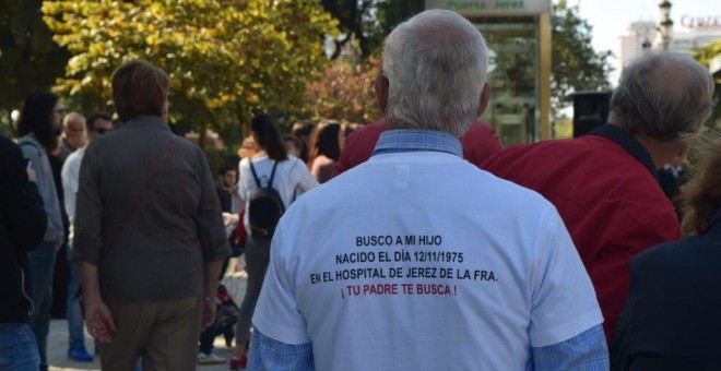
[[[649,167],[598,135],[515,146],[482,165],[556,206],[593,282],[608,340],[628,291],[628,261],[681,238],[674,207]]]

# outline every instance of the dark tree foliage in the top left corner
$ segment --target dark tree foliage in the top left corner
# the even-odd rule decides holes
[[[39,13],[42,1],[0,0],[0,111],[20,109],[32,92],[48,88],[70,58],[52,41]],[[7,118],[5,118],[7,116]]]

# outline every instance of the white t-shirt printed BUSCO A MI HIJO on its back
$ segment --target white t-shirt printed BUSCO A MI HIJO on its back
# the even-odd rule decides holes
[[[253,323],[318,370],[523,370],[603,322],[537,193],[444,153],[377,155],[275,231]]]

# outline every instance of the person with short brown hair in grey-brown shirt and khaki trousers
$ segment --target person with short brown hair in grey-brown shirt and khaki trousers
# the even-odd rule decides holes
[[[170,131],[167,74],[143,61],[113,75],[122,123],[80,171],[73,258],[103,370],[194,370],[229,254],[202,152]],[[202,321],[201,321],[202,314]]]

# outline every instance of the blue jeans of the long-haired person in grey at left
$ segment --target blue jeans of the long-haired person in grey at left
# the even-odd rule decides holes
[[[47,347],[50,330],[50,304],[52,303],[52,268],[55,267],[56,244],[43,241],[27,253],[31,279],[31,298],[34,310],[29,325],[35,333],[37,351],[40,356],[40,371],[48,369]]]

